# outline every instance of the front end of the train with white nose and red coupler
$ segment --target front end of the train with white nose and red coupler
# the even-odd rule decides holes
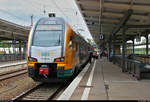
[[[65,26],[61,18],[42,18],[32,28],[27,62],[35,81],[50,82],[64,73]]]

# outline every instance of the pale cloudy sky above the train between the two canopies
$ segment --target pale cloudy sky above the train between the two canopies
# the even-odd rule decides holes
[[[35,24],[51,12],[63,17],[85,39],[92,39],[74,0],[0,0],[0,19],[23,26],[31,25],[32,15]]]

